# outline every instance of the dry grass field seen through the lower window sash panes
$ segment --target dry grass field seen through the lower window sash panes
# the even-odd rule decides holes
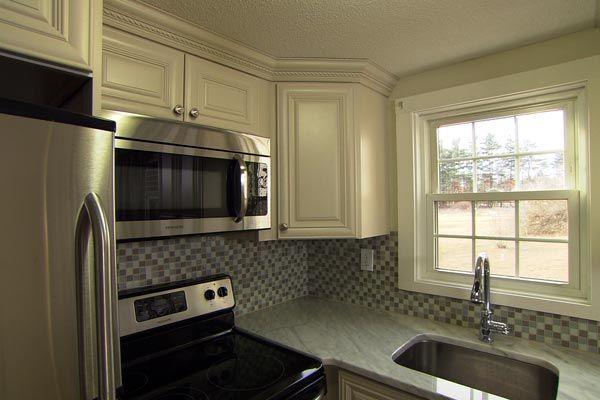
[[[520,233],[531,237],[568,237],[563,205],[539,201],[521,206]],[[545,214],[537,210],[554,208]],[[566,211],[566,204],[564,205]],[[528,214],[527,214],[528,213]],[[525,215],[527,214],[527,215]],[[542,215],[543,217],[539,217]],[[540,218],[542,218],[540,220]],[[544,220],[546,218],[546,220]],[[515,276],[516,242],[515,205],[504,202],[491,207],[476,207],[475,235],[506,237],[502,240],[475,239],[475,255],[486,252],[493,275]],[[546,222],[546,223],[544,223]],[[453,203],[440,207],[438,233],[441,235],[471,235],[471,205],[469,202]],[[438,238],[438,257],[441,269],[469,272],[474,270],[471,239]],[[551,281],[568,281],[568,244],[521,241],[519,244],[519,277]]]

